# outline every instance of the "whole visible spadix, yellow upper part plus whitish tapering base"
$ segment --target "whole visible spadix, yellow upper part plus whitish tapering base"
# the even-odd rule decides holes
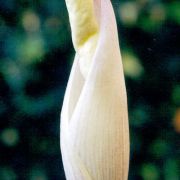
[[[86,78],[94,54],[99,26],[93,0],[66,0],[72,29],[72,40],[80,58],[80,69]]]

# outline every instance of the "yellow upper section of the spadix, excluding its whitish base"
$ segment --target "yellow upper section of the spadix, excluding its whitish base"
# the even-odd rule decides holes
[[[66,0],[76,50],[99,31],[93,0]]]

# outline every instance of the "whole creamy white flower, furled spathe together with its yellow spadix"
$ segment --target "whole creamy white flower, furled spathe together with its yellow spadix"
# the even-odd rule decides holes
[[[110,0],[66,0],[76,56],[61,112],[67,180],[127,180],[124,74]]]

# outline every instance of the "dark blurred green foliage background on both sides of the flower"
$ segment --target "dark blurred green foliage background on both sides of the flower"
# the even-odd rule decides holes
[[[180,179],[180,1],[112,1],[129,102],[129,180]],[[0,0],[0,180],[64,180],[73,62],[64,0]]]

